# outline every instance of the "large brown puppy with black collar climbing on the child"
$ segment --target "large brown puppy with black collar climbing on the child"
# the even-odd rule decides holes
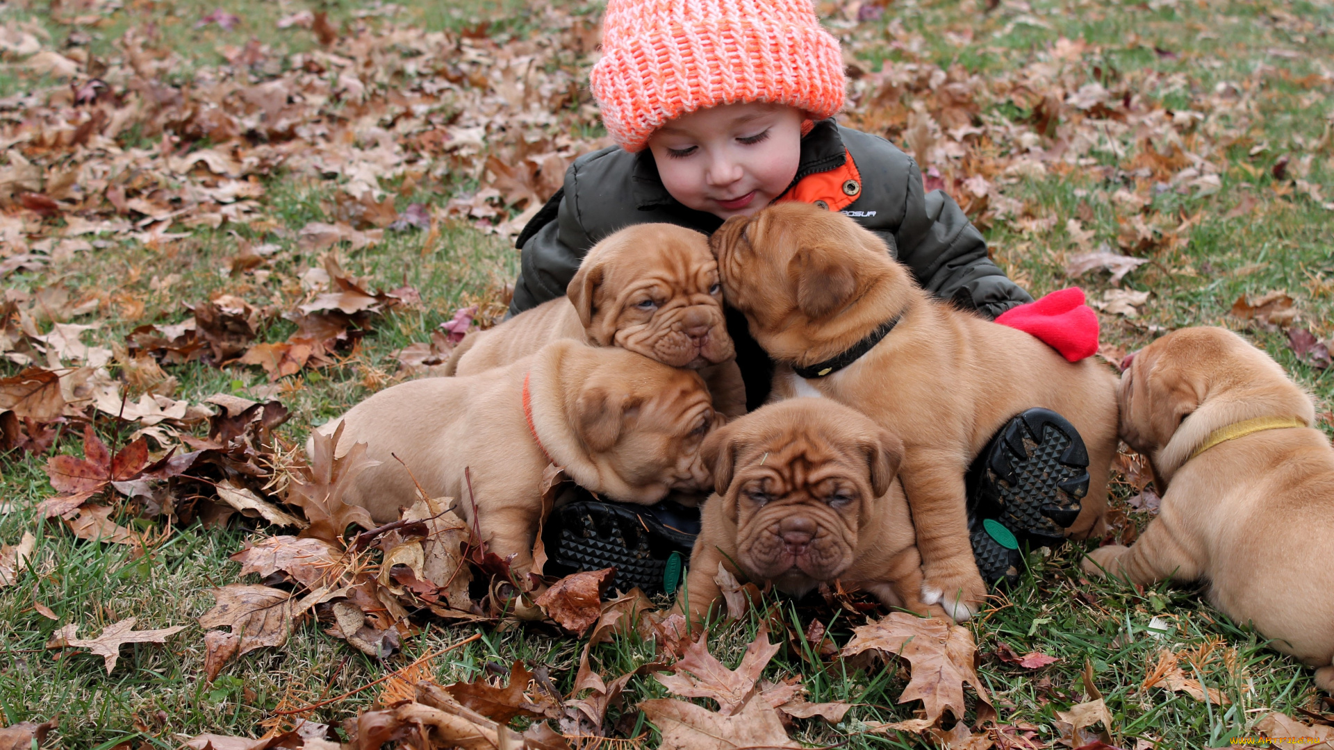
[[[1101,522],[1117,446],[1107,367],[1066,362],[1029,334],[930,299],[876,235],[842,214],[780,203],[728,219],[711,242],[728,304],[779,363],[824,362],[898,320],[850,366],[824,378],[788,375],[786,390],[846,403],[903,439],[899,478],[926,602],[967,619],[986,595],[968,544],[964,472],[1027,408],[1069,419],[1089,450],[1089,492],[1067,532],[1087,534]]]

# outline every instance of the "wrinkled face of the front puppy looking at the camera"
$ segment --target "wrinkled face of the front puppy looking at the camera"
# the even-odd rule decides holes
[[[804,593],[838,578],[903,455],[892,434],[824,399],[790,399],[719,430],[704,446],[738,565]]]

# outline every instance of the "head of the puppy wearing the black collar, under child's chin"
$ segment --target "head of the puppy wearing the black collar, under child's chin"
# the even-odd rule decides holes
[[[734,216],[710,246],[727,303],[746,314],[764,348],[787,332],[824,327],[894,274],[879,238],[842,214],[806,203]]]

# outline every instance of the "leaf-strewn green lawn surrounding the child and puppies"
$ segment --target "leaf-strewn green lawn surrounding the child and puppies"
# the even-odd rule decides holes
[[[1225,326],[1309,388],[1334,434],[1334,368],[1319,344],[1334,346],[1334,4],[818,8],[848,64],[840,117],[914,153],[927,185],[964,206],[995,262],[1035,295],[1082,286],[1106,359],[1175,328]],[[277,400],[288,418],[265,444],[296,460],[312,427],[434,362],[427,344],[447,348],[442,324],[458,328],[456,311],[476,306],[474,324],[492,323],[518,270],[512,235],[575,155],[607,143],[587,91],[599,16],[518,0],[0,5],[0,376],[49,368],[67,402],[45,427],[4,423],[5,444],[19,444],[0,456],[0,543],[35,543],[8,585],[0,573],[0,725],[53,719],[43,747],[168,749],[200,733],[288,729],[296,715],[280,711],[328,701],[303,715],[338,726],[392,683],[358,689],[474,634],[426,671],[448,685],[522,659],[570,695],[587,635],[426,611],[384,659],[305,617],[281,647],[208,681],[196,618],[217,587],[260,582],[229,555],[283,531],[209,515],[197,483],[172,484],[191,488],[171,498],[175,511],[161,496],[97,490],[89,502],[147,546],[88,540],[39,503],[57,495],[51,456],[84,455],[84,424],[113,451],[145,430],[153,459],[197,450],[188,439],[204,440],[209,420],[127,411],[144,394],[164,410],[217,394]],[[367,292],[355,310],[320,302],[338,291],[338,268]],[[229,328],[171,328],[208,303]],[[303,338],[316,322],[335,327]],[[97,394],[109,406],[91,406]],[[1119,467],[1111,535],[1130,539],[1157,506],[1133,458]],[[1023,582],[968,623],[999,714],[968,747],[1061,746],[1057,713],[1097,695],[1111,719],[1103,739],[1137,750],[1222,747],[1257,737],[1270,711],[1334,723],[1309,669],[1198,590],[1090,582],[1082,548],[1033,551]],[[735,666],[766,623],[783,646],[766,679],[795,677],[812,702],[852,705],[839,723],[796,719],[791,737],[806,746],[930,746],[872,731],[914,717],[915,702],[898,703],[907,669],[830,661],[799,635],[818,621],[848,641],[864,615],[831,602],[766,594],[715,623],[708,646]],[[109,674],[83,650],[48,649],[67,625],[92,638],[129,617],[139,630],[185,627],[121,649]],[[1034,653],[1057,661],[1010,658]],[[1210,699],[1145,687],[1165,654]],[[608,681],[654,658],[654,642],[632,634],[591,650]],[[635,706],[667,695],[651,674],[630,678],[607,715],[616,745],[655,746]]]

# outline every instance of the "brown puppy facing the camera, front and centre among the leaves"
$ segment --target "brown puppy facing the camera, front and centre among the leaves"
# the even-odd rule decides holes
[[[790,399],[731,422],[704,440],[718,494],[703,510],[678,594],[692,622],[718,599],[718,565],[755,583],[804,594],[839,579],[916,613],[922,559],[903,488],[903,443],[828,400]]]

